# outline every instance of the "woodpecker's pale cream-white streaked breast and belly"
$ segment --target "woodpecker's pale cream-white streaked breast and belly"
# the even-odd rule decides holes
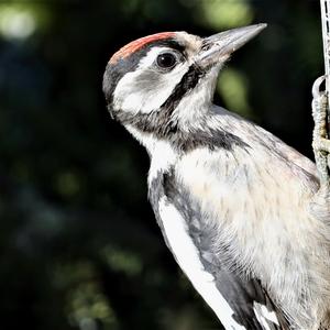
[[[260,278],[285,311],[306,324],[318,297],[326,297],[326,287],[317,283],[329,263],[320,267],[328,248],[319,234],[322,224],[310,219],[306,207],[312,187],[295,170],[295,164],[262,146],[195,150],[176,165],[180,184],[216,228],[228,266],[234,261]]]

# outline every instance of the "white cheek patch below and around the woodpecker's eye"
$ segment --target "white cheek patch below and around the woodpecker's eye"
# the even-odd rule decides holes
[[[134,72],[119,80],[113,94],[114,109],[134,114],[150,113],[164,105],[189,68],[187,63],[180,63],[168,73],[157,70],[156,57],[166,50],[152,48]]]

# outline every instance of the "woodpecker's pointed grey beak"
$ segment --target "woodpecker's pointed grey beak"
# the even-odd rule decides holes
[[[202,67],[223,62],[266,26],[267,24],[249,25],[206,37],[202,41],[201,51],[196,62]]]

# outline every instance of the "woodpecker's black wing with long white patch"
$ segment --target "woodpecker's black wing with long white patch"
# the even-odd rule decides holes
[[[212,251],[212,233],[204,228],[201,213],[191,208],[189,195],[177,187],[170,174],[160,173],[151,183],[150,200],[166,244],[223,327],[231,330],[287,329],[285,318],[260,282],[244,279],[227,268]]]

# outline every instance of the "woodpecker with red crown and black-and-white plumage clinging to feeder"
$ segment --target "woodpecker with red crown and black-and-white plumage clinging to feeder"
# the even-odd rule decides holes
[[[329,186],[311,161],[212,103],[223,64],[265,26],[133,41],[110,58],[103,91],[148,152],[167,246],[224,328],[330,329]]]

